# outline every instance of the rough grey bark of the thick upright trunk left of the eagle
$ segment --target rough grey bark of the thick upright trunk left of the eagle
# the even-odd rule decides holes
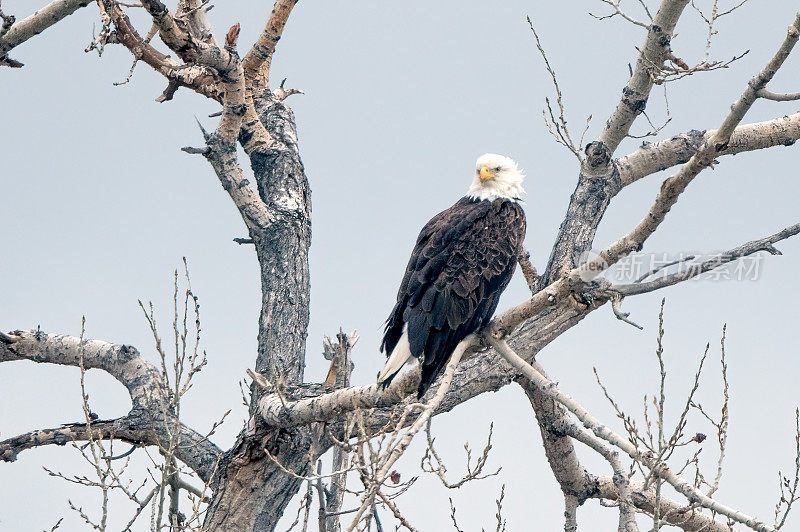
[[[256,371],[277,386],[296,385],[303,380],[309,320],[310,189],[291,109],[270,94],[256,101],[256,109],[277,141],[250,154],[258,193],[270,214],[267,226],[250,226],[261,267]],[[242,144],[248,141],[240,138]],[[262,394],[253,384],[251,405]],[[264,447],[286,469],[298,475],[310,471],[308,426],[281,429],[266,426],[258,416],[253,420],[252,430],[243,431],[222,460],[208,530],[274,529],[302,481],[282,471]]]

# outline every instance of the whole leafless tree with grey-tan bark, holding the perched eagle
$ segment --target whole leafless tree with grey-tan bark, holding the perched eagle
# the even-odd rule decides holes
[[[741,95],[731,105],[730,112],[720,117],[719,124],[710,125],[716,129],[689,131],[645,143],[633,153],[618,156],[617,148],[632,135],[631,127],[645,114],[656,85],[725,68],[739,57],[713,60],[710,49],[718,19],[744,2],[721,6],[715,0],[706,11],[691,2],[708,27],[707,35],[702,36],[706,54],[695,65],[681,59],[672,46],[675,27],[690,0],[661,0],[652,8],[640,0],[644,20],[628,14],[618,0],[603,0],[603,3],[611,12],[595,15],[597,18],[621,17],[640,27],[645,36],[622,97],[597,137],[585,146],[583,139],[590,129],[589,121],[576,142],[578,136],[567,127],[555,68],[533,31],[556,93],[554,104],[549,99],[546,102],[545,122],[555,140],[567,147],[578,162],[577,185],[547,266],[538,275],[527,255],[520,256],[522,271],[531,287],[530,299],[499,314],[485,330],[459,344],[443,377],[422,402],[417,402],[414,394],[420,379],[416,368],[399,376],[385,390],[375,384],[352,384],[350,352],[357,335],[341,331],[335,340],[328,339],[325,344],[325,358],[331,361],[325,382],[304,381],[309,322],[310,190],[300,158],[294,115],[286,103],[298,91],[270,80],[273,54],[296,0],[275,2],[263,32],[243,56],[237,51],[239,24],[231,27],[223,42],[218,43],[206,17],[211,7],[207,1],[179,0],[171,11],[160,0],[140,0],[134,4],[118,0],[55,0],[20,20],[4,13],[0,6],[1,65],[23,67],[11,57],[17,45],[91,4],[99,10],[101,29],[87,50],[102,53],[109,45],[125,47],[133,56],[133,67],[142,62],[164,77],[166,88],[158,96],[159,101],[171,100],[183,88],[219,102],[217,128],[202,131],[204,145],[186,147],[184,151],[208,161],[238,209],[249,234],[248,238],[237,241],[255,249],[262,294],[258,352],[254,369],[249,371],[250,389],[244,393],[250,419],[227,450],[213,444],[208,433],[186,426],[180,418],[180,398],[188,391],[192,376],[202,369],[204,357],[196,343],[191,347],[191,327],[187,326],[187,320],[190,323],[192,313],[197,310],[195,296],[191,287],[187,286],[184,292],[178,289],[176,274],[172,359],[162,347],[152,309],[142,306],[153,332],[160,367],[148,362],[134,347],[86,340],[83,335],[65,336],[39,330],[0,333],[0,362],[30,360],[75,366],[82,374],[87,369],[100,369],[127,389],[132,403],[126,415],[100,420],[92,414],[84,391],[84,422],[40,429],[2,441],[0,457],[14,461],[20,453],[35,447],[85,442],[76,446],[94,466],[97,478],[53,474],[99,488],[104,501],[111,490],[123,492],[134,506],[129,527],[151,505],[154,529],[274,530],[290,502],[303,493],[292,528],[308,528],[310,508],[316,498],[320,530],[372,527],[383,530],[386,525],[381,522],[381,515],[384,519],[391,515],[398,528],[415,530],[395,502],[413,485],[414,479],[401,478],[393,469],[396,460],[424,429],[429,451],[422,469],[436,474],[445,486],[455,488],[494,474],[485,470],[491,449],[490,435],[476,462],[472,461],[472,451],[467,449],[464,477],[448,480],[447,468],[434,447],[430,420],[473,397],[516,382],[530,399],[543,435],[545,455],[564,495],[565,530],[577,530],[577,509],[588,499],[601,499],[614,508],[619,513],[620,531],[639,530],[641,519],[637,521],[637,514],[649,516],[652,525],[648,526],[653,530],[667,526],[686,531],[722,531],[734,526],[758,531],[781,528],[797,500],[800,465],[793,475],[781,477],[781,499],[773,523],[753,517],[755,509],[739,510],[714,498],[727,441],[729,395],[724,341],[720,354],[724,406],[719,417],[695,401],[704,355],[673,431],[665,420],[666,370],[660,347],[657,357],[662,372],[661,388],[653,395],[652,405],[645,402],[643,424],[637,423],[627,413],[630,409],[619,406],[613,394],[603,388],[622,422],[624,434],[612,430],[559,389],[534,357],[606,304],[617,318],[633,323],[621,309],[624,298],[682,283],[755,253],[779,254],[775,244],[800,233],[798,223],[715,257],[682,258],[628,284],[612,284],[602,276],[625,257],[643,249],[686,187],[704,170],[722,163],[727,155],[789,146],[800,138],[800,113],[781,113],[772,120],[743,123],[759,99],[800,100],[800,94],[777,94],[769,86],[800,37],[800,16],[787,21],[791,25],[785,35],[775,36],[774,55],[762,58],[763,68],[753,73],[751,79],[741,80]],[[144,37],[128,16],[129,10],[139,7],[152,21],[152,29]],[[152,43],[155,35],[168,52]],[[647,121],[651,127],[647,135],[657,136],[663,126],[654,125],[649,118]],[[247,156],[254,183],[244,177],[237,145]],[[591,252],[597,228],[611,200],[625,187],[665,169],[672,169],[672,174],[663,181],[649,209],[643,206],[642,221],[599,253]],[[196,320],[199,334],[199,315]],[[663,329],[659,345],[662,336]],[[719,442],[719,459],[708,478],[702,475],[696,455],[681,456],[692,442],[706,438],[704,434],[686,433],[685,421],[690,413],[702,415]],[[125,458],[115,454],[114,442],[126,442],[133,450],[155,449],[161,456],[153,461],[158,475],[153,476],[153,488],[146,494],[140,494],[135,486],[123,481],[120,469],[113,466],[118,463],[116,460]],[[584,469],[576,457],[575,442],[602,456],[611,474],[603,476]],[[328,451],[332,455],[332,469],[325,474],[319,461]],[[800,464],[800,448],[797,460]],[[197,483],[204,487],[187,481],[190,475],[195,475]],[[357,477],[361,486],[355,490],[348,488],[348,477]],[[193,501],[189,517],[180,509],[181,492]],[[498,494],[496,503],[498,531],[506,527],[502,513],[504,493]],[[355,501],[352,509],[344,507],[345,501],[350,500],[348,496]],[[379,507],[385,510],[383,514],[377,511]],[[99,520],[81,508],[75,510],[90,526],[105,529],[108,512],[105,504]],[[455,506],[451,518],[459,529]]]

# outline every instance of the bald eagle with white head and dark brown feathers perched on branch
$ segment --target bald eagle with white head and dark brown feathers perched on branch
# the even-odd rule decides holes
[[[467,195],[422,228],[386,320],[380,385],[414,357],[421,398],[458,343],[489,323],[525,238],[524,178],[508,157],[482,155]]]

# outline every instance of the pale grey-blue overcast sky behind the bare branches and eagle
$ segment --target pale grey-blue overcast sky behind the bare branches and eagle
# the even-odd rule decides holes
[[[636,2],[626,3],[643,16]],[[647,3],[655,9],[657,2]],[[710,3],[698,2],[706,9]],[[3,9],[21,17],[33,4],[6,0]],[[728,70],[670,84],[672,121],[660,138],[720,124],[784,38],[793,4],[754,0],[720,22],[713,58],[750,53]],[[240,48],[246,49],[269,11],[267,2],[221,0],[210,16],[218,38],[240,22]],[[591,114],[587,138],[593,139],[618,101],[644,31],[618,18],[597,21],[589,11],[607,10],[595,0],[306,0],[297,6],[272,76],[286,77],[288,86],[306,92],[290,103],[313,191],[308,380],[324,378],[322,337],[342,326],[361,334],[353,382],[373,381],[383,363],[377,350],[381,325],[414,239],[432,215],[463,195],[474,161],[484,152],[508,155],[526,170],[526,246],[534,264],[545,266],[577,166],[542,122],[544,98],[553,91],[525,16],[534,20],[559,75],[570,126],[578,132]],[[134,22],[142,33],[149,27],[141,13]],[[231,420],[214,437],[228,448],[245,419],[237,383],[255,359],[258,266],[251,248],[231,241],[246,231],[209,165],[179,151],[202,142],[195,117],[213,128],[216,119],[206,117],[218,106],[186,90],[172,102],[155,103],[165,83],[141,65],[131,83],[115,87],[127,75],[130,55],[119,46],[109,46],[100,59],[84,54],[93,25],[99,27],[98,10],[89,6],[15,49],[12,56],[25,63],[23,69],[0,70],[0,329],[41,326],[78,335],[85,315],[88,337],[132,344],[155,361],[137,299],[152,300],[168,327],[172,271],[187,257],[209,363],[186,400],[184,420],[203,431],[233,408]],[[702,58],[705,29],[691,8],[677,32],[675,52],[689,63]],[[773,90],[800,90],[797,56],[787,61]],[[796,102],[762,101],[745,121],[797,109]],[[653,91],[648,114],[653,122],[664,122],[661,88]],[[633,130],[644,133],[646,125],[639,121]],[[626,141],[618,155],[639,142]],[[798,161],[796,147],[724,158],[692,183],[645,251],[712,253],[797,223]],[[641,219],[664,177],[650,176],[614,199],[596,247]],[[776,473],[794,465],[794,409],[800,402],[800,240],[778,247],[784,255],[758,262],[756,279],[697,281],[626,300],[626,310],[644,331],[602,308],[538,357],[565,391],[619,429],[594,382],[596,367],[614,397],[641,419],[642,396],[656,389],[657,314],[666,297],[668,414],[674,420],[707,342],[710,359],[699,397],[718,411],[718,345],[727,323],[731,425],[718,498],[769,521],[778,497]],[[526,297],[517,275],[500,309]],[[116,381],[94,371],[88,381],[92,408],[102,418],[127,412],[127,394]],[[3,364],[0,438],[81,420],[79,393],[74,368]],[[490,422],[495,445],[489,466],[503,471],[456,492],[423,474],[398,501],[421,530],[450,526],[448,496],[462,528],[494,529],[494,499],[503,483],[508,530],[563,526],[561,493],[532,410],[516,386],[436,418],[437,443],[451,474],[462,471],[464,441],[480,446]],[[697,418],[687,430],[711,433]],[[703,444],[708,475],[716,460],[714,440]],[[609,474],[605,463],[579,452],[595,473]],[[421,454],[422,447],[413,446],[398,470],[406,477],[418,474]],[[49,478],[42,465],[88,472],[74,450],[60,447],[0,464],[0,530],[49,529],[60,517],[63,529],[80,530],[67,498],[91,511],[98,507],[98,493]],[[127,522],[129,507],[114,502],[111,528],[118,529]],[[289,512],[294,509],[295,503]],[[579,512],[585,530],[614,529],[616,519],[614,510],[597,501]],[[799,523],[795,516],[787,526]],[[142,520],[140,529],[145,525]]]

